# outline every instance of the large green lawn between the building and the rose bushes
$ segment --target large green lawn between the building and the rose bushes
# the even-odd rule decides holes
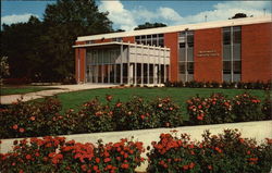
[[[222,92],[228,98],[243,92],[249,92],[257,96],[261,100],[265,98],[263,90],[245,90],[245,89],[221,89],[221,88],[107,88],[107,89],[90,89],[83,91],[65,92],[58,95],[58,98],[63,104],[63,111],[72,108],[78,110],[78,108],[86,101],[92,98],[99,98],[101,102],[106,102],[106,95],[112,95],[113,101],[126,101],[133,96],[139,96],[146,99],[156,97],[170,97],[177,104],[181,106],[184,118],[186,119],[186,100],[196,94],[199,96],[210,96],[213,92]]]

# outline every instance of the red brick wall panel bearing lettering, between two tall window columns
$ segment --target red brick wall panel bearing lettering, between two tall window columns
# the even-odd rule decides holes
[[[211,51],[200,53],[199,51]],[[199,57],[199,54],[207,57]],[[195,74],[198,82],[222,82],[222,34],[221,28],[195,30]]]

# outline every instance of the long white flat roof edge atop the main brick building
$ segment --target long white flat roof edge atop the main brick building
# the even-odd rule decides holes
[[[226,20],[226,21],[205,22],[205,23],[198,23],[198,24],[165,26],[165,27],[141,29],[141,30],[81,36],[81,37],[77,37],[76,41],[98,40],[98,39],[118,38],[118,37],[131,37],[131,36],[140,36],[140,35],[152,35],[152,34],[164,34],[164,33],[181,32],[185,29],[196,30],[196,29],[205,29],[205,28],[217,28],[217,27],[226,27],[226,26],[236,26],[236,25],[250,25],[250,24],[270,23],[270,22],[272,22],[272,15],[267,15],[262,17],[243,17],[243,18],[233,18],[233,20]]]

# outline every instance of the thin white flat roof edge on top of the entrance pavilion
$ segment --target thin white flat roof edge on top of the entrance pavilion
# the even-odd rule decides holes
[[[102,44],[85,44],[85,45],[75,45],[73,48],[86,48],[86,47],[100,47],[100,46],[134,46],[134,47],[143,47],[143,48],[151,48],[157,50],[170,50],[170,48],[166,47],[154,47],[154,46],[147,46],[141,44],[131,44],[131,42],[119,42],[119,41],[111,41],[111,42],[102,42]]]

